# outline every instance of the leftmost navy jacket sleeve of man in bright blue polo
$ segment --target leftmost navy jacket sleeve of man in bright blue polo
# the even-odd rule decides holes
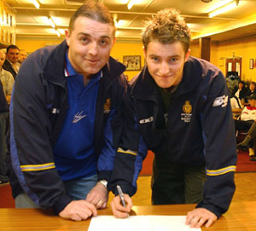
[[[31,55],[15,81],[10,106],[11,160],[23,191],[35,204],[58,214],[72,199],[55,169],[52,128],[40,76],[43,64],[38,60]]]

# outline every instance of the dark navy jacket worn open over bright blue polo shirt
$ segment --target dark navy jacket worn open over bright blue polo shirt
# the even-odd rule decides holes
[[[64,64],[67,44],[38,49],[20,67],[10,107],[10,150],[12,166],[22,189],[43,208],[62,211],[72,200],[65,193],[55,169],[53,147],[67,112],[67,81]],[[125,91],[125,66],[112,58],[102,68],[96,101],[95,150],[98,155],[98,179],[108,180],[119,146],[122,124],[119,122],[121,95]],[[113,113],[112,120],[108,115]],[[110,123],[111,131],[104,130]],[[86,130],[86,128],[84,128]],[[111,148],[102,153],[106,134]],[[107,148],[108,150],[108,148]],[[17,189],[18,182],[11,182]]]

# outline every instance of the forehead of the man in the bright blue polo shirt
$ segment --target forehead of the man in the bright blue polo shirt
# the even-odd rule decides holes
[[[113,35],[113,26],[88,17],[79,16],[73,25],[74,33],[88,33],[91,36]],[[73,33],[72,32],[72,33]]]

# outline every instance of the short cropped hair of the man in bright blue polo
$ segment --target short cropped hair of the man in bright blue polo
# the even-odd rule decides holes
[[[102,1],[92,1],[86,0],[83,5],[77,9],[77,11],[72,15],[68,30],[69,33],[73,32],[73,26],[75,20],[80,16],[90,18],[91,20],[96,20],[102,23],[108,23],[113,26],[113,36],[115,34],[116,28],[114,25],[113,17],[109,12],[109,9],[102,3]]]

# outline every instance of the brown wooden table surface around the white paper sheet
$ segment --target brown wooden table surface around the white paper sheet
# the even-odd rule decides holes
[[[131,215],[186,215],[195,205],[151,205],[134,206]],[[98,211],[98,215],[112,215],[111,209]],[[56,217],[50,211],[39,209],[0,209],[0,230],[4,231],[86,231],[90,219],[73,222]],[[256,201],[232,203],[230,210],[215,222],[211,228],[202,230],[215,231],[255,231]]]

